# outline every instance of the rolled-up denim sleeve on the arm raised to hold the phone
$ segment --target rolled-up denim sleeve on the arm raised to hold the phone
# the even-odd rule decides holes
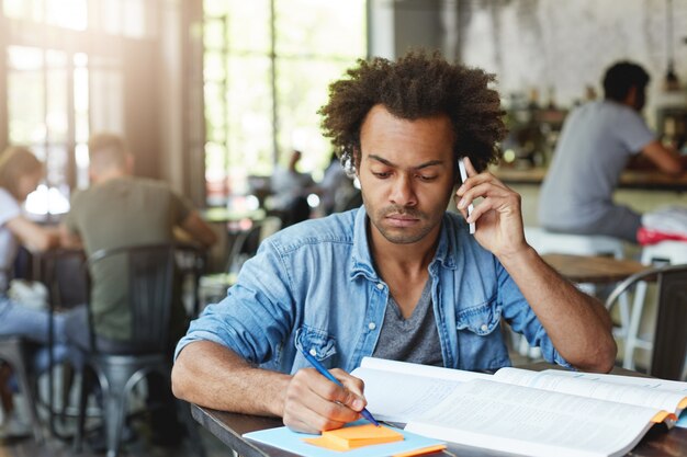
[[[513,277],[510,277],[503,265],[498,264],[497,269],[498,295],[503,305],[503,317],[510,324],[510,328],[517,333],[525,335],[530,346],[541,349],[541,355],[547,362],[573,368],[553,346],[547,330],[525,299],[518,285],[513,281]]]

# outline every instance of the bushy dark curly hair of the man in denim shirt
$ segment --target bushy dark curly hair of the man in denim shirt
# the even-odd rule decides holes
[[[348,78],[329,85],[329,102],[319,108],[324,135],[331,138],[347,171],[360,163],[360,129],[372,106],[382,104],[394,116],[417,119],[447,114],[453,126],[455,159],[468,156],[477,171],[500,159],[496,142],[504,138],[505,112],[493,75],[451,65],[439,54],[414,50],[397,61],[358,60]]]

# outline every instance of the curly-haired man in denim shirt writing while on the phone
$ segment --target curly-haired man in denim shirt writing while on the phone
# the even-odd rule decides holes
[[[410,53],[359,60],[334,82],[323,128],[363,206],[268,238],[177,345],[174,393],[297,431],[340,427],[365,405],[348,374],[362,357],[495,369],[510,365],[502,320],[549,362],[609,370],[602,305],[527,244],[519,196],[484,171],[505,134],[493,81]],[[447,212],[453,195],[460,214]],[[303,352],[346,387],[308,368]]]

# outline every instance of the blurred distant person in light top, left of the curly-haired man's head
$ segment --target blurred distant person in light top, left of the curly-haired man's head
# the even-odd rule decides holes
[[[307,196],[314,192],[315,181],[309,173],[297,170],[299,161],[303,153],[299,150],[291,151],[289,165],[278,165],[272,174],[272,205],[273,209],[281,215],[282,227],[306,220],[311,217],[311,207]]]

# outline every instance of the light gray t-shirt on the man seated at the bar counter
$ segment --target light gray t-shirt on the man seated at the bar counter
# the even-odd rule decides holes
[[[655,139],[640,114],[590,102],[565,119],[539,197],[539,222],[577,231],[613,214],[612,194],[630,156]]]

